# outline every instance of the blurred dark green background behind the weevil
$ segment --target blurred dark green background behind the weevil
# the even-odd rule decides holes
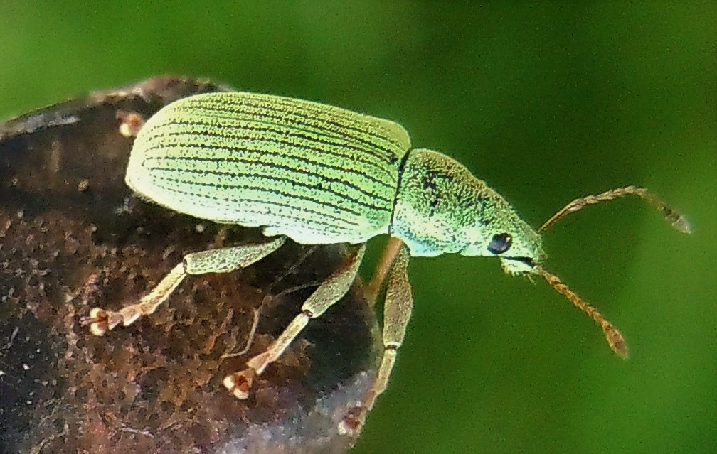
[[[406,343],[354,452],[717,452],[714,1],[32,3],[0,3],[3,118],[206,76],[396,120],[535,226],[628,183],[688,213],[692,236],[633,199],[545,236],[548,268],[622,329],[627,361],[543,282],[414,260]]]

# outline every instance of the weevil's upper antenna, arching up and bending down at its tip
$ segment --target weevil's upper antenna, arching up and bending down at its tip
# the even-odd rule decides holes
[[[624,197],[625,195],[637,195],[638,197],[645,199],[646,201],[652,203],[652,205],[657,207],[658,210],[662,211],[665,215],[665,219],[670,221],[670,224],[672,224],[672,226],[678,231],[682,233],[692,233],[692,226],[690,226],[690,221],[688,221],[685,216],[678,213],[678,211],[675,211],[673,208],[670,208],[670,206],[660,200],[657,195],[647,192],[647,189],[643,188],[642,186],[635,185],[625,186],[625,188],[607,190],[604,193],[599,193],[596,195],[586,195],[585,197],[576,198],[574,201],[568,203],[566,206],[564,206],[564,208],[551,216],[548,221],[545,221],[545,223],[543,223],[543,225],[538,228],[538,233],[545,231],[546,228],[552,226],[555,221],[562,218],[566,214],[575,213],[576,211],[579,211],[581,208],[584,208],[588,205],[612,201],[615,198]]]

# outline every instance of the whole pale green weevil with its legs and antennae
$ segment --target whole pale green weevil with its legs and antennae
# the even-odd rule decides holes
[[[224,385],[246,398],[252,380],[275,361],[310,319],[346,294],[369,238],[389,234],[371,292],[386,282],[384,354],[374,385],[339,430],[357,433],[386,388],[412,310],[410,256],[497,256],[509,274],[542,276],[603,329],[622,357],[619,331],[543,268],[539,233],[590,203],[638,195],[685,233],[683,216],[644,188],[627,186],[576,199],[533,230],[508,202],[456,160],[411,148],[397,123],[288,97],[212,93],[184,98],[138,132],[125,181],[146,201],[217,223],[261,227],[266,241],[189,253],[138,304],[94,308],[85,323],[105,334],[151,314],[187,274],[226,273],[253,264],[285,238],[305,244],[350,243],[346,260],[305,301],[295,319],[247,369]]]

